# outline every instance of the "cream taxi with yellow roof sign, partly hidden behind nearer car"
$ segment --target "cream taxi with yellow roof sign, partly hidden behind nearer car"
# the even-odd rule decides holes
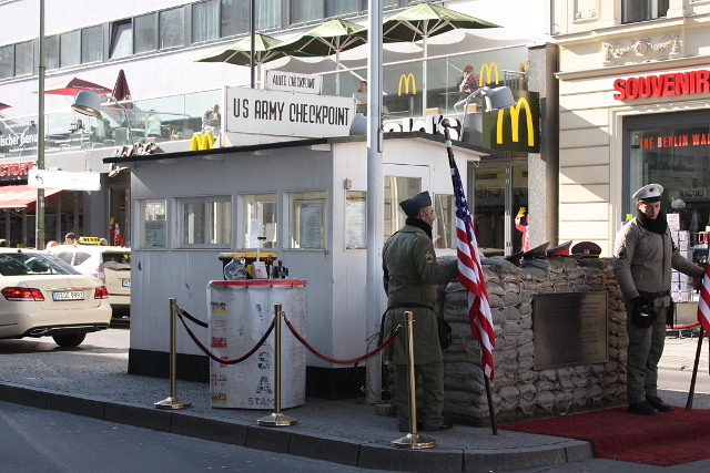
[[[101,279],[109,289],[113,317],[131,310],[131,248],[102,246],[98,238],[79,238],[73,245],[57,245],[47,251],[73,266],[79,273]]]

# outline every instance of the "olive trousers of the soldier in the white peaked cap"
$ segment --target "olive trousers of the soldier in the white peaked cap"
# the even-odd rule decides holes
[[[631,321],[631,311],[627,307],[629,348],[626,380],[629,404],[641,402],[647,395],[658,395],[658,362],[666,345],[666,312],[669,309],[655,307],[656,321],[642,329]]]

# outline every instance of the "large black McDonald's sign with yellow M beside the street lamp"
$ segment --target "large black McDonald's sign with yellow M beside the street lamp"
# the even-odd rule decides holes
[[[483,144],[490,150],[540,152],[540,94],[513,90],[516,104],[484,112]]]

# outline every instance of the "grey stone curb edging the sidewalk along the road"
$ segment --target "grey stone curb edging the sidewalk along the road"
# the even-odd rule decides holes
[[[490,472],[551,466],[594,457],[591,444],[578,440],[540,448],[505,450],[402,450],[324,434],[288,432],[225,421],[191,412],[77,397],[8,382],[0,382],[0,401],[363,469]]]

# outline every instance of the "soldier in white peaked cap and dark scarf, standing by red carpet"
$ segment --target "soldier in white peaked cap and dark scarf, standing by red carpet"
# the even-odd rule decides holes
[[[636,192],[636,218],[617,234],[613,273],[627,309],[629,348],[627,397],[629,412],[656,415],[673,412],[658,397],[658,362],[666,341],[666,316],[671,306],[671,268],[693,278],[703,269],[683,258],[661,212],[663,187],[649,184]]]

